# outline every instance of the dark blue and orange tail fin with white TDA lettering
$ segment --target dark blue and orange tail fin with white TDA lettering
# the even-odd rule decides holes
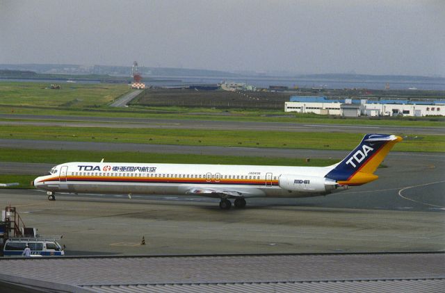
[[[333,169],[326,178],[341,185],[362,185],[378,178],[374,171],[378,168],[394,144],[402,137],[385,134],[366,134],[362,142]]]

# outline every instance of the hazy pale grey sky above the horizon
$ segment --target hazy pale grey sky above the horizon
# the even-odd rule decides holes
[[[444,0],[0,0],[0,64],[445,76]]]

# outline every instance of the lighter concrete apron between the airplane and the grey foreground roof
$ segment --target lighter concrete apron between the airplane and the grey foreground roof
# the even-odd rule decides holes
[[[67,256],[445,251],[444,212],[328,208],[249,199],[245,209],[184,196],[0,190],[40,235],[63,235]],[[143,243],[145,241],[145,244]]]

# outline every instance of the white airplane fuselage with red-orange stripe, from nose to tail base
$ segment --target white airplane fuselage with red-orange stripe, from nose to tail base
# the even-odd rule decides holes
[[[181,195],[192,194],[191,189],[200,186],[237,190],[243,197],[316,196],[331,191],[311,186],[311,178],[325,180],[328,167],[70,162],[53,170],[54,174],[36,178],[35,187],[49,192]],[[283,174],[294,174],[293,182],[301,190],[280,187]]]

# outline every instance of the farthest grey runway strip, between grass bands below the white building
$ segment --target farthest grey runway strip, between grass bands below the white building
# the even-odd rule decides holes
[[[202,119],[143,119],[125,117],[86,117],[58,115],[0,114],[0,125],[33,125],[60,127],[107,127],[107,128],[175,128],[244,131],[285,131],[285,132],[333,132],[333,133],[394,133],[416,135],[445,135],[441,127],[412,126],[364,126],[341,124],[301,124],[284,122],[231,122]],[[19,121],[14,121],[15,119]],[[37,121],[38,120],[38,121]]]

